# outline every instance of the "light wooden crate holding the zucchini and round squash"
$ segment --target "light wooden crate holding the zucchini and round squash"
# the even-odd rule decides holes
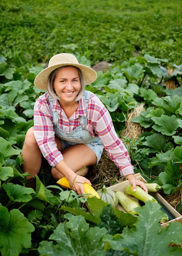
[[[135,174],[135,177],[138,179],[138,180],[141,180],[143,182],[146,182],[146,180],[140,175],[140,173],[137,173]],[[125,192],[125,187],[129,184],[129,181],[126,180],[124,182],[121,182],[121,183],[117,183],[113,186],[110,186],[110,187],[107,187],[107,189],[111,189],[111,190],[114,190],[114,191],[122,191],[122,192]],[[167,214],[169,216],[169,221],[178,221],[178,222],[181,222],[182,223],[182,215],[180,213],[178,213],[178,211],[176,211],[159,193],[150,193],[154,198],[156,198],[156,200],[158,200],[159,204],[161,205],[161,207],[165,208],[165,210],[167,210]],[[128,196],[129,198],[132,198],[133,200],[136,200],[138,202],[138,199],[134,198],[134,197],[130,197]],[[161,209],[162,209],[161,208]],[[121,211],[124,211],[126,212],[123,207],[121,206],[121,204],[118,204],[118,207],[117,207],[118,210],[121,210]],[[167,224],[168,222],[166,222],[165,224]]]

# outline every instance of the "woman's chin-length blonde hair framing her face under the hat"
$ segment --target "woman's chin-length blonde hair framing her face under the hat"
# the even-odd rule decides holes
[[[61,68],[64,68],[64,67],[75,67],[75,66],[72,66],[72,65],[69,65],[69,66],[63,66],[63,67],[58,67],[57,69],[53,70],[49,77],[48,77],[48,83],[47,83],[47,92],[49,94],[50,97],[53,97],[55,99],[60,99],[59,96],[57,96],[56,92],[55,92],[55,89],[53,87],[54,85],[54,81],[55,81],[55,78],[57,76],[57,73],[58,71],[61,69]],[[77,70],[78,70],[78,73],[79,73],[79,79],[80,79],[80,83],[81,83],[81,89],[79,91],[79,93],[77,94],[77,97],[75,99],[75,101],[79,101],[79,99],[81,99],[82,95],[83,95],[83,92],[85,90],[85,81],[83,79],[83,76],[81,74],[81,70],[78,68],[78,67],[75,67]]]

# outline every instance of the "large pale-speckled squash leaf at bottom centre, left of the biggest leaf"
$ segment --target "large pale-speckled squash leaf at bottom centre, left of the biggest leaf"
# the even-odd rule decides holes
[[[68,222],[60,223],[50,235],[53,242],[39,243],[38,252],[47,256],[105,256],[105,242],[102,238],[107,230],[99,227],[90,227],[83,216],[72,216]]]

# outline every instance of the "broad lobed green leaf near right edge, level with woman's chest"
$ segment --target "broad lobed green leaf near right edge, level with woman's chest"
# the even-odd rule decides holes
[[[162,115],[161,117],[151,117],[154,121],[152,128],[158,132],[161,132],[163,135],[172,136],[176,133],[178,129],[178,119],[175,115],[167,116]]]

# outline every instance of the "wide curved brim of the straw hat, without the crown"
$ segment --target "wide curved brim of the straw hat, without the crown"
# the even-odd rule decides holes
[[[56,70],[58,67],[63,67],[63,66],[78,67],[81,70],[81,74],[85,81],[85,85],[89,85],[90,83],[93,83],[97,78],[96,71],[93,70],[91,67],[88,67],[88,66],[82,65],[82,64],[66,63],[66,64],[53,65],[51,67],[47,67],[44,70],[42,70],[35,77],[34,85],[41,90],[46,90],[47,83],[48,83],[48,77],[49,77],[50,73],[53,72],[54,70]]]

